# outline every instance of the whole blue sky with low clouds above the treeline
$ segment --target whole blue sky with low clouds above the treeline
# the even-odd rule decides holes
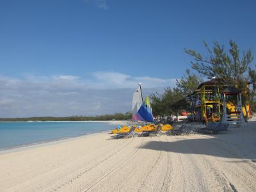
[[[150,93],[184,74],[191,61],[185,47],[204,52],[202,40],[232,39],[255,55],[255,7],[255,1],[1,1],[0,116],[129,111],[139,81]],[[118,103],[106,101],[114,98],[110,89]],[[88,90],[95,95],[86,96]],[[75,92],[81,95],[58,99]],[[97,97],[101,107],[90,110]]]

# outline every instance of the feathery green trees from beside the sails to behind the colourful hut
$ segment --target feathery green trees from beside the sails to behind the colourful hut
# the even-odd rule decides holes
[[[166,88],[164,93],[150,95],[154,116],[169,116],[180,113],[186,109],[185,98],[195,92],[199,84],[205,79],[216,80],[218,85],[236,86],[242,91],[243,104],[250,103],[251,110],[255,111],[256,72],[253,65],[252,51],[241,51],[236,42],[230,40],[228,49],[215,41],[212,48],[204,41],[206,53],[202,54],[193,49],[185,52],[193,58],[190,70],[186,70],[183,77],[176,80],[175,88]],[[250,84],[250,90],[248,89]],[[248,112],[248,111],[247,111]]]

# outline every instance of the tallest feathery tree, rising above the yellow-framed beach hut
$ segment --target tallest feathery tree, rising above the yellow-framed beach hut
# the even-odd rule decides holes
[[[212,49],[206,42],[204,45],[207,56],[202,56],[192,49],[185,49],[185,52],[194,59],[191,61],[192,68],[206,78],[216,77],[218,84],[237,86],[243,93],[243,104],[250,102],[250,94],[246,93],[246,83],[250,80],[248,74],[253,62],[250,49],[241,52],[232,40],[229,42],[228,51],[219,42],[213,42]]]

